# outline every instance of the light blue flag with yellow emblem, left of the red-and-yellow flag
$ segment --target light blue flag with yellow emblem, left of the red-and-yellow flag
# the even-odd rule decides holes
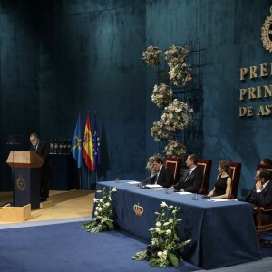
[[[78,121],[76,123],[73,141],[71,145],[71,153],[74,160],[77,162],[77,168],[81,168],[83,165],[83,139],[82,139],[82,126],[81,126],[81,116],[78,116]]]

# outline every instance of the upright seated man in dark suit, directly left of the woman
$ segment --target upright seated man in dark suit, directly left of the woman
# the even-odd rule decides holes
[[[180,181],[173,186],[178,191],[188,191],[198,193],[203,182],[203,172],[199,170],[198,157],[195,154],[190,154],[186,160],[186,165],[189,170],[180,178]]]

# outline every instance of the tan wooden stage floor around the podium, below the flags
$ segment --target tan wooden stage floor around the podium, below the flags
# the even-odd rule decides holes
[[[53,207],[33,209],[31,218],[25,222],[90,217],[92,216],[93,197],[94,191],[91,190],[51,190],[48,200],[53,202]],[[11,202],[12,199],[12,192],[0,192],[0,205]],[[2,213],[0,213],[0,225],[10,223],[12,222],[3,222]]]

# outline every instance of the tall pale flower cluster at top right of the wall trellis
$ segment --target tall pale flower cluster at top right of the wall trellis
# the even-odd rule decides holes
[[[175,46],[174,44],[166,51],[165,58],[170,66],[170,81],[176,86],[184,87],[192,79],[191,68],[188,62],[189,50],[185,46]]]

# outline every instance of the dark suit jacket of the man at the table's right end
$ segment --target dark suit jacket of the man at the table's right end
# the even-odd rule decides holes
[[[239,201],[244,201],[252,204],[253,206],[266,207],[272,205],[272,180],[267,183],[267,186],[262,189],[261,192],[257,193],[254,186],[249,192],[248,196],[238,199]],[[262,213],[262,219],[268,220],[272,219],[271,212]]]

